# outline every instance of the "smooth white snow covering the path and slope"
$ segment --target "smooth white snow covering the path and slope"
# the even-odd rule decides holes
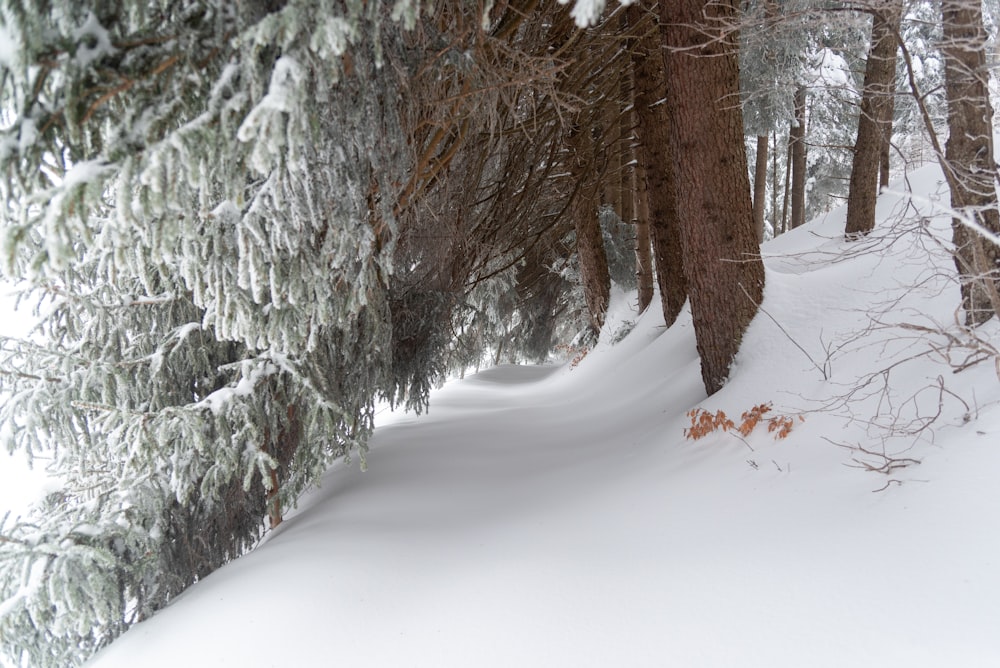
[[[944,191],[934,168],[910,186]],[[333,467],[91,665],[1000,665],[1000,379],[903,326],[952,327],[958,289],[905,199],[880,212],[870,239],[837,212],[764,247],[715,396],[690,317],[619,296],[575,368],[489,369],[386,416],[367,473]],[[787,438],[685,439],[693,408],[762,402]],[[879,453],[919,464],[865,470]]]

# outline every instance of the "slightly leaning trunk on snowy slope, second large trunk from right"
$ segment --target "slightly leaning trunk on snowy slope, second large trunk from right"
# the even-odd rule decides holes
[[[873,15],[847,197],[845,233],[848,236],[868,234],[875,227],[875,202],[878,199],[883,147],[887,152],[892,134],[891,100],[895,93],[898,50],[896,35],[903,16],[903,4],[900,0],[890,0],[878,5]]]

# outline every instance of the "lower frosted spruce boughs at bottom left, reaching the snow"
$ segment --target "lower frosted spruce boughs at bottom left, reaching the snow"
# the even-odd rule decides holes
[[[121,296],[57,297],[50,342],[0,360],[8,446],[52,448],[67,472],[3,528],[0,628],[32,666],[66,665],[244,552],[265,488],[292,503],[367,428],[333,401],[349,388],[215,340],[188,297]]]

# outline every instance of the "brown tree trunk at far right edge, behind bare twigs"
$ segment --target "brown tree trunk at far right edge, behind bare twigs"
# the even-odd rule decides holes
[[[1000,233],[993,158],[993,108],[989,100],[986,34],[981,0],[942,0],[948,143],[945,176],[951,206],[994,234]],[[955,264],[962,279],[966,322],[975,326],[1000,315],[997,280],[1000,248],[964,225],[952,223]]]

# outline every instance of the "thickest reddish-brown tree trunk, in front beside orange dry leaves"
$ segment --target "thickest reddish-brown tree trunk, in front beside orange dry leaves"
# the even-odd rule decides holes
[[[729,376],[764,289],[740,110],[739,0],[660,4],[684,269],[702,380]]]

